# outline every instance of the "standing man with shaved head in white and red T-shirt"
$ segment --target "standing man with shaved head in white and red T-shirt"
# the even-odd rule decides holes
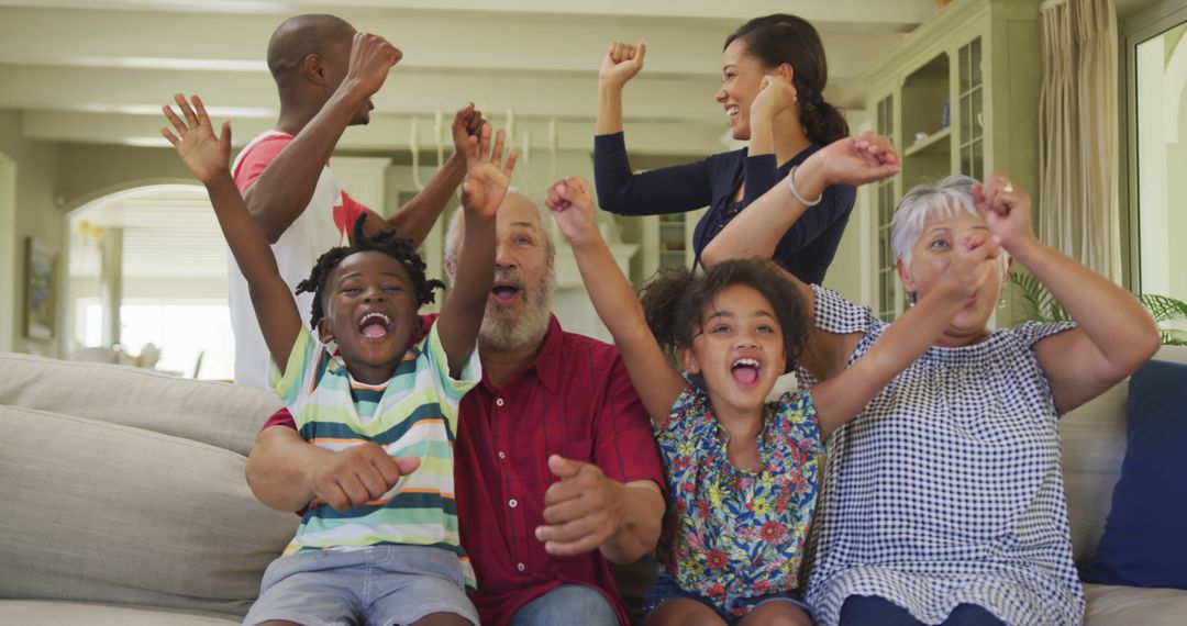
[[[382,37],[355,31],[335,15],[297,15],[268,40],[268,70],[280,96],[280,117],[240,152],[231,174],[248,211],[272,243],[280,273],[291,289],[309,275],[317,257],[347,242],[355,219],[367,213],[367,232],[395,226],[419,244],[465,175],[466,136],[482,128],[482,115],[468,104],[453,119],[453,155],[407,205],[385,219],[354,200],[330,171],[330,153],[348,126],[369,122],[374,96],[402,52]],[[190,123],[185,98],[174,100]],[[182,121],[165,108],[174,127]],[[255,320],[247,281],[228,257],[235,382],[267,388],[268,351]],[[312,296],[297,296],[309,321]]]

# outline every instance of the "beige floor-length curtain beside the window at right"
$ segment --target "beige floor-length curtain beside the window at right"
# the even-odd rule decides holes
[[[1117,41],[1113,0],[1042,5],[1039,236],[1121,282]]]

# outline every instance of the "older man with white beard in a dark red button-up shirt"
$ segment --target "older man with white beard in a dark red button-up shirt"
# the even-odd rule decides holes
[[[552,315],[556,250],[545,223],[518,192],[499,210],[478,336],[483,379],[462,400],[455,448],[462,545],[478,579],[471,600],[483,624],[628,624],[609,562],[655,547],[662,468],[617,350],[565,332]],[[453,219],[451,277],[464,239]],[[369,461],[383,454],[377,445],[329,452],[292,426],[274,415],[248,459],[261,502],[297,509],[319,497],[349,510],[391,487]]]

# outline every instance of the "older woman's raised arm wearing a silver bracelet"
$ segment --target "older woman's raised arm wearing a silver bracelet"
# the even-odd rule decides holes
[[[837,140],[808,156],[783,180],[738,213],[700,253],[705,266],[730,258],[770,258],[783,235],[830,185],[862,185],[899,173],[899,154],[884,136]],[[795,185],[800,198],[792,193]]]

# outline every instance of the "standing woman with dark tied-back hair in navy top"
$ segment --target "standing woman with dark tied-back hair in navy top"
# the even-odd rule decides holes
[[[725,107],[734,139],[749,141],[749,147],[633,174],[622,132],[622,88],[642,69],[646,51],[643,41],[614,43],[602,60],[594,138],[598,202],[607,211],[630,216],[707,205],[693,234],[698,263],[734,216],[814,152],[849,134],[840,111],[824,100],[829,69],[819,33],[795,15],[767,15],[725,39],[716,96]],[[850,185],[827,187],[819,205],[813,200],[814,210],[782,235],[774,260],[804,282],[823,282],[855,197]]]

